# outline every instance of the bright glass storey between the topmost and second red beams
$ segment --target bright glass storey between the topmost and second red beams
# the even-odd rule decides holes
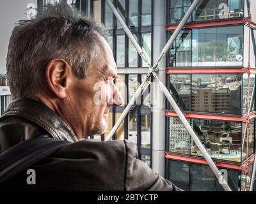
[[[182,31],[169,50],[168,66],[243,66],[243,25]]]

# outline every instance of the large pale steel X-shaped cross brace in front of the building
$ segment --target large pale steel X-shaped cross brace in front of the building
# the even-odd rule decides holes
[[[138,42],[135,40],[134,36],[132,35],[131,31],[129,30],[129,28],[125,24],[124,20],[122,19],[122,17],[118,13],[118,11],[116,10],[116,8],[113,5],[113,3],[111,2],[111,0],[106,0],[106,1],[109,4],[109,7],[111,8],[111,10],[113,11],[115,17],[117,18],[117,20],[122,25],[125,33],[127,34],[129,39],[131,40],[132,44],[134,45],[134,47],[136,48],[136,50],[140,54],[141,58],[147,63],[148,69],[149,69],[145,81],[141,83],[141,85],[138,87],[137,91],[135,92],[134,96],[132,96],[131,100],[129,101],[129,103],[125,107],[124,112],[122,112],[122,114],[120,115],[119,119],[117,120],[115,126],[113,127],[113,129],[111,129],[111,131],[110,131],[109,135],[107,136],[106,140],[111,140],[111,138],[115,134],[116,130],[120,126],[121,122],[124,120],[125,116],[129,113],[129,110],[131,109],[131,106],[134,104],[136,99],[141,95],[141,92],[143,92],[143,90],[147,89],[148,85],[150,84],[150,81],[148,81],[148,80],[152,76],[152,77],[156,78],[157,82],[159,83],[159,86],[161,87],[161,90],[163,91],[164,95],[166,96],[166,98],[168,99],[170,104],[172,105],[173,110],[175,110],[175,112],[179,116],[180,121],[184,124],[185,128],[188,130],[189,135],[191,135],[191,137],[193,138],[193,141],[196,143],[198,149],[200,150],[200,152],[202,152],[202,154],[203,154],[205,160],[207,161],[207,163],[209,164],[212,172],[214,173],[214,175],[216,176],[216,178],[220,182],[220,185],[223,187],[223,189],[225,189],[225,191],[231,191],[231,189],[228,186],[227,182],[225,181],[225,179],[221,175],[220,171],[218,170],[218,168],[216,167],[216,165],[212,161],[212,158],[209,156],[207,150],[205,150],[204,145],[202,145],[202,143],[200,142],[200,140],[199,140],[198,136],[196,135],[195,131],[193,131],[193,129],[191,128],[188,120],[186,120],[186,118],[184,117],[183,113],[181,112],[179,106],[177,105],[177,103],[175,103],[172,95],[170,94],[168,89],[165,87],[165,85],[157,77],[157,71],[158,71],[157,70],[157,66],[158,66],[159,61],[161,61],[161,59],[163,59],[164,55],[168,52],[168,49],[170,48],[170,46],[172,45],[173,41],[178,36],[180,31],[182,30],[182,27],[185,25],[185,23],[188,20],[189,16],[191,15],[193,10],[195,10],[196,6],[202,0],[195,0],[195,1],[193,1],[193,3],[191,4],[189,10],[186,12],[186,14],[182,18],[182,20],[180,20],[180,23],[177,26],[177,29],[175,29],[175,31],[172,34],[171,38],[168,40],[168,42],[164,46],[164,48],[163,48],[163,50],[162,50],[162,52],[161,52],[161,54],[159,56],[159,59],[157,59],[157,61],[154,63],[153,66],[151,66],[150,63],[148,62],[148,59],[147,59],[146,55],[144,54],[144,52],[141,49],[141,47],[138,44]]]

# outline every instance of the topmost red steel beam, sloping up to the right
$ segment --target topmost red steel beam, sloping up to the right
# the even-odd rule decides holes
[[[250,18],[236,18],[236,19],[229,19],[229,20],[214,20],[210,22],[191,22],[184,25],[183,29],[193,29],[198,27],[211,27],[211,26],[221,26],[221,25],[235,25],[235,24],[245,24],[250,22]],[[252,22],[251,22],[252,24]],[[167,25],[166,31],[175,30],[178,25]]]

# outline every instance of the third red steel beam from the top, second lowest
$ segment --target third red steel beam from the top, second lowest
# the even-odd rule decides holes
[[[183,113],[186,118],[198,118],[198,119],[209,119],[209,120],[231,120],[237,122],[243,122],[243,116],[236,116],[236,115],[216,115],[210,113]],[[174,111],[166,110],[166,116],[177,117],[177,113]]]

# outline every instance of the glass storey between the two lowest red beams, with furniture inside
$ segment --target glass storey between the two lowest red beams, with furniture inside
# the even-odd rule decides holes
[[[245,124],[225,120],[188,119],[193,129],[214,159],[234,161],[241,163],[246,158],[246,145],[248,143],[248,156],[253,154],[255,138],[255,119],[249,126],[249,136],[244,138]],[[202,153],[193,142],[188,131],[177,117],[168,117],[169,139],[168,151],[191,156],[200,156]],[[242,129],[243,128],[243,129]],[[242,149],[242,146],[244,147]]]

